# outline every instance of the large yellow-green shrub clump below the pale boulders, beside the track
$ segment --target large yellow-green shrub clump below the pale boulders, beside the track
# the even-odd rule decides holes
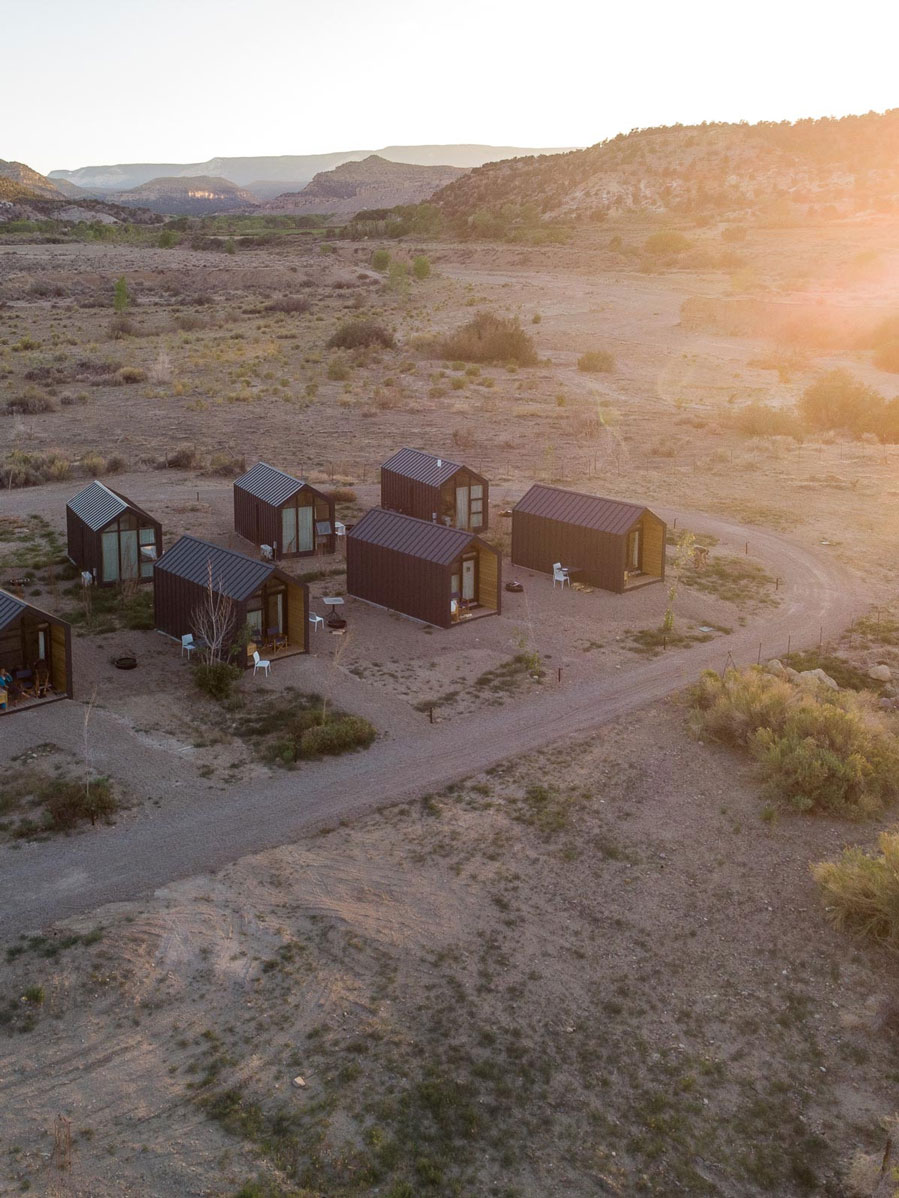
[[[749,749],[766,793],[795,810],[868,815],[899,789],[899,738],[867,695],[750,668],[706,671],[690,702],[695,731]]]

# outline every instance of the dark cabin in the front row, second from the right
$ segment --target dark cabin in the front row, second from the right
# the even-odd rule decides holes
[[[346,591],[450,628],[500,611],[499,550],[464,528],[372,508],[346,534]]]

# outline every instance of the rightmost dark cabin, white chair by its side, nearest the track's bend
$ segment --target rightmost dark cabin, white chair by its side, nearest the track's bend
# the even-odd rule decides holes
[[[665,522],[639,503],[536,483],[512,510],[512,562],[619,593],[665,576]]]

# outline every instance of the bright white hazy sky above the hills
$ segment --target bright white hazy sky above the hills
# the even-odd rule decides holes
[[[0,0],[0,158],[478,141],[899,104],[895,0]]]

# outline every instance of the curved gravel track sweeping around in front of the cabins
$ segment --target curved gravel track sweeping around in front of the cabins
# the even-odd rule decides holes
[[[665,514],[664,512],[662,513]],[[696,532],[734,537],[738,527],[678,513]],[[274,774],[224,794],[204,793],[180,763],[181,785],[195,800],[179,810],[149,809],[133,821],[44,845],[0,849],[0,936],[53,922],[108,902],[138,898],[158,887],[221,869],[273,848],[324,823],[408,800],[497,762],[586,733],[686,685],[707,666],[762,660],[841,631],[865,606],[865,592],[839,563],[774,533],[752,530],[753,551],[785,580],[779,607],[728,636],[689,649],[635,659],[627,672],[548,691],[525,706],[479,713],[378,742],[364,754]],[[47,708],[44,710],[53,710]],[[24,713],[17,719],[28,719]],[[111,726],[111,725],[110,725]],[[163,762],[159,761],[161,768]],[[147,763],[147,783],[171,785]]]

